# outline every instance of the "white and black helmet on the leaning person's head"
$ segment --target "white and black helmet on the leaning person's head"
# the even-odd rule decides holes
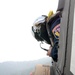
[[[32,26],[33,36],[37,41],[45,41],[50,44],[50,40],[48,37],[47,29],[46,29],[47,16],[42,15],[37,18]]]

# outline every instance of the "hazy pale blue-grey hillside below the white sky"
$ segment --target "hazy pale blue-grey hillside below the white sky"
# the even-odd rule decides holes
[[[34,61],[0,63],[0,75],[29,75],[36,64],[51,64],[49,57]]]

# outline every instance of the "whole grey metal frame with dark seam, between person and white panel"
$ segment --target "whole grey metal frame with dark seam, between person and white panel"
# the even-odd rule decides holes
[[[59,0],[61,2],[61,0]],[[73,10],[75,0],[62,0],[64,9],[61,19],[60,31],[60,48],[58,50],[58,62],[53,63],[55,75],[73,75],[70,71],[71,44],[72,44],[72,27],[73,27]],[[60,3],[59,2],[59,3]],[[61,3],[59,4],[61,6]]]

